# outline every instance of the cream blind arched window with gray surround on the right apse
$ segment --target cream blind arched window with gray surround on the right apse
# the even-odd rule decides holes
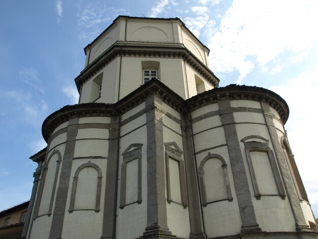
[[[232,201],[228,165],[225,159],[217,154],[209,153],[200,163],[199,182],[202,195],[202,204]]]

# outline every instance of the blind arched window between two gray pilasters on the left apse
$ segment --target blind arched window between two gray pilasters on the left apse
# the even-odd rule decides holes
[[[73,211],[100,211],[102,170],[88,161],[80,165],[73,177],[69,212]],[[93,197],[95,195],[95,197]]]

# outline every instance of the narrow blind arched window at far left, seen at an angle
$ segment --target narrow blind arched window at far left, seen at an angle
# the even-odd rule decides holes
[[[59,166],[62,161],[61,153],[53,150],[43,167],[43,179],[39,192],[39,203],[36,209],[36,217],[52,214],[55,197]]]

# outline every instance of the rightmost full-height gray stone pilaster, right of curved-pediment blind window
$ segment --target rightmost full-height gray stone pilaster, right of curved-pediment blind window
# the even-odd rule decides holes
[[[306,220],[305,220],[303,211],[301,209],[297,190],[295,188],[292,175],[290,173],[287,161],[284,156],[283,149],[280,144],[280,140],[278,138],[276,127],[274,125],[273,116],[270,113],[269,105],[264,102],[261,102],[261,105],[264,112],[263,115],[264,115],[265,123],[267,125],[267,129],[268,129],[268,132],[272,141],[272,145],[274,148],[276,160],[280,169],[281,176],[283,178],[287,197],[290,201],[290,205],[291,205],[294,219],[296,222],[296,231],[312,231],[312,229],[309,228],[308,225],[306,225]]]

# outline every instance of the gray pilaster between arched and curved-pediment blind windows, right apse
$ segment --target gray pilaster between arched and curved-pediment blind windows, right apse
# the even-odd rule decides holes
[[[257,223],[254,207],[252,204],[252,198],[250,195],[240,142],[236,131],[234,115],[230,101],[221,100],[218,102],[218,107],[228,144],[235,191],[240,208],[242,220],[241,232],[254,233],[262,231],[262,229],[259,227],[259,224]]]

